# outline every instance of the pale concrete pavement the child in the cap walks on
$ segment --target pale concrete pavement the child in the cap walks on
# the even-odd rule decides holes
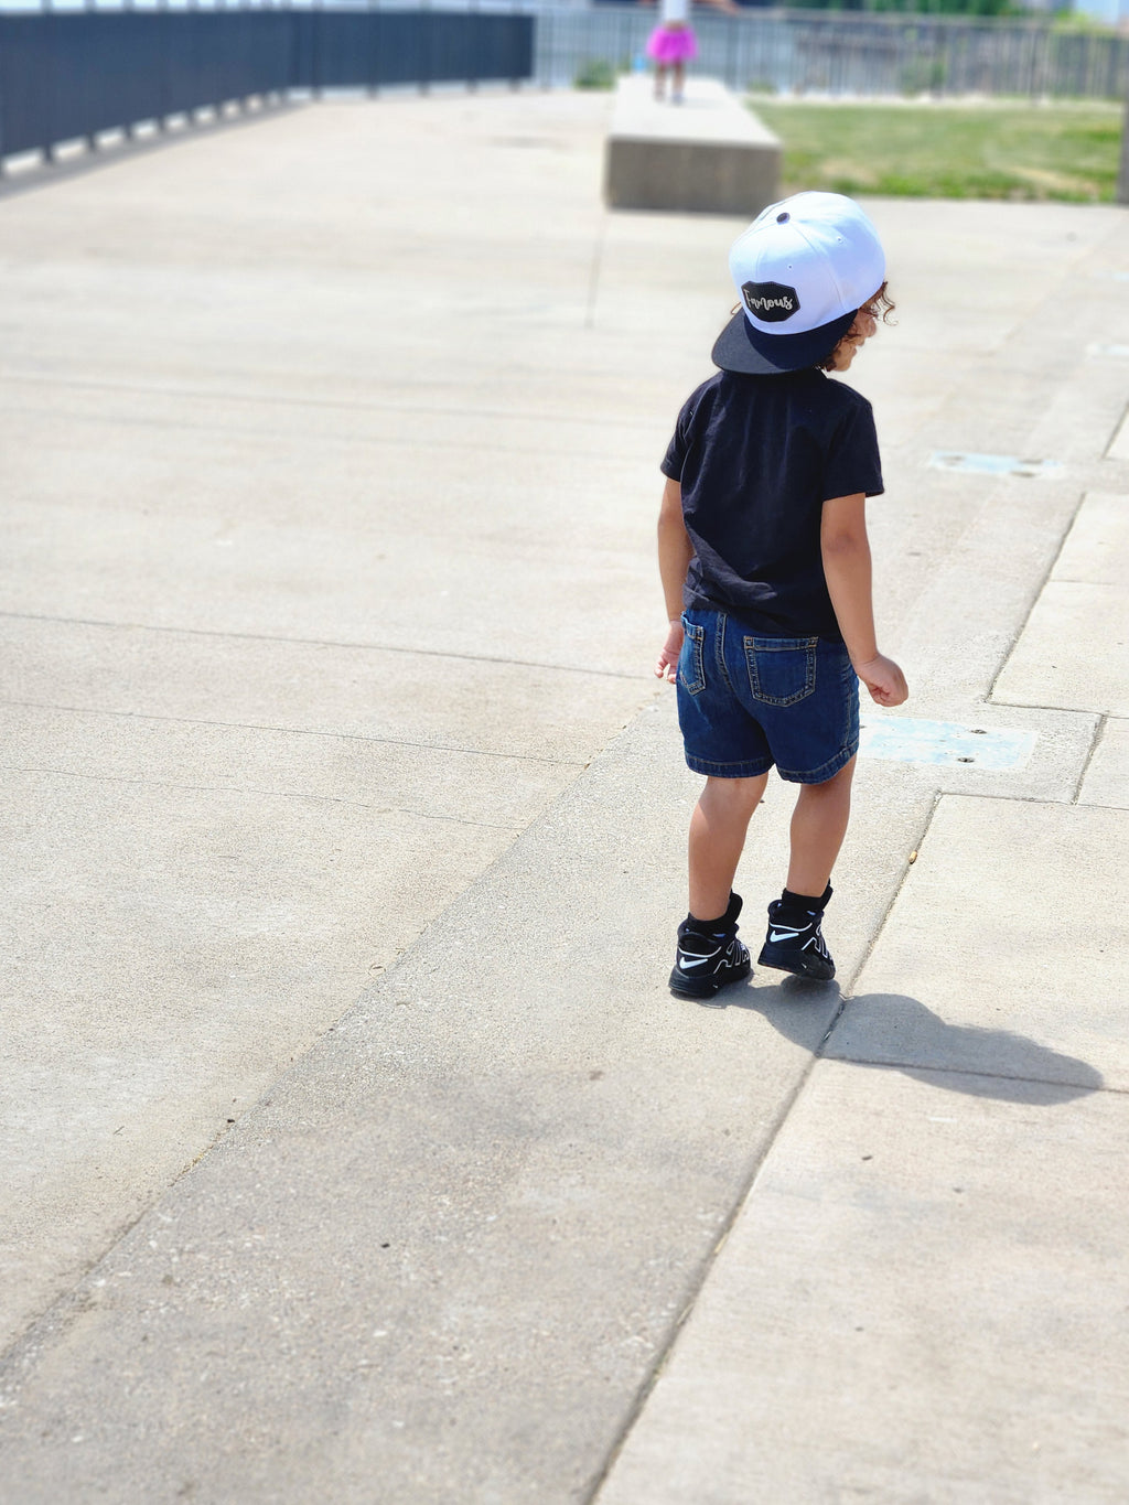
[[[1129,212],[869,206],[914,695],[841,989],[698,1008],[652,528],[738,224],[604,214],[607,108],[0,202],[6,1499],[1129,1491]]]

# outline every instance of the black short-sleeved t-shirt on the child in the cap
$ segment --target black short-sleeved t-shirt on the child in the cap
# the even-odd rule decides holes
[[[718,372],[682,408],[662,474],[694,546],[683,602],[763,637],[841,641],[819,524],[832,497],[882,491],[870,403],[819,370]]]

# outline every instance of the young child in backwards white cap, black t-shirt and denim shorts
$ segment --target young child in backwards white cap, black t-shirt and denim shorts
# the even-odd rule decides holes
[[[799,793],[760,965],[834,977],[820,923],[851,813],[858,680],[881,706],[908,695],[875,638],[875,420],[823,375],[848,370],[893,307],[878,232],[851,199],[795,194],[735,242],[730,272],[741,307],[714,346],[720,373],[679,414],[658,527],[670,631],[655,673],[677,679],[686,763],[706,775],[670,974],[683,998],[751,971],[732,883],[772,765]]]

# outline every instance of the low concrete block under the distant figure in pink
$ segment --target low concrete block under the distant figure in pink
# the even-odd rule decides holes
[[[620,78],[604,155],[613,209],[735,214],[751,220],[780,197],[780,137],[717,78],[689,78],[682,104],[649,78]]]

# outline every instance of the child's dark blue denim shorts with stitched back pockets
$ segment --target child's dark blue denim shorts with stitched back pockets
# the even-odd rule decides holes
[[[841,643],[765,638],[720,611],[686,611],[679,725],[711,778],[834,778],[858,751],[858,676]]]

